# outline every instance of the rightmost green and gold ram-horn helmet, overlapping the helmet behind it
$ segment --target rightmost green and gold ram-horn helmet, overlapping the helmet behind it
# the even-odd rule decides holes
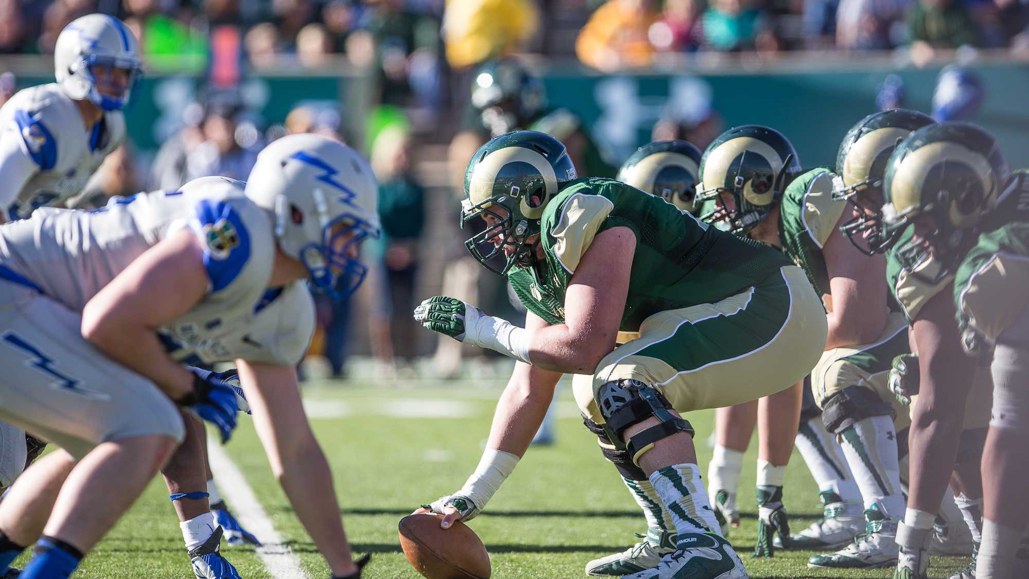
[[[883,246],[893,245],[909,225],[922,224],[898,251],[914,254],[927,243],[943,266],[941,279],[975,242],[986,215],[1013,182],[997,142],[981,127],[941,123],[919,129],[886,166]]]

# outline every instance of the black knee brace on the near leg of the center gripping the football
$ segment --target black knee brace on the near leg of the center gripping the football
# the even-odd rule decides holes
[[[634,465],[655,442],[677,433],[694,435],[694,428],[684,418],[672,415],[672,405],[660,391],[639,380],[623,379],[607,382],[597,391],[597,405],[604,415],[608,439],[619,450],[626,450]],[[655,417],[661,423],[631,436],[623,442],[629,427]]]

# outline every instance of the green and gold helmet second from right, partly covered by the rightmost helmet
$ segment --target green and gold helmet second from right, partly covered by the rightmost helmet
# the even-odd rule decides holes
[[[866,254],[877,252],[883,239],[870,233],[870,218],[882,206],[886,163],[897,143],[922,127],[935,123],[916,110],[895,108],[874,112],[847,131],[837,154],[837,175],[832,199],[857,206],[858,216],[841,229],[847,239]]]

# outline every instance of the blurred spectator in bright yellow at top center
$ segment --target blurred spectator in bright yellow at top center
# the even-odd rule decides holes
[[[534,0],[447,0],[447,61],[464,68],[508,55],[531,39],[538,26]]]

